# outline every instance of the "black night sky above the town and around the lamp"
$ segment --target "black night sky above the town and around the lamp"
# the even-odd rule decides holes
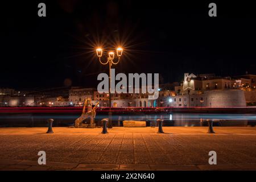
[[[38,3],[47,16],[38,17]],[[184,72],[220,76],[256,73],[255,7],[249,2],[182,1],[1,2],[0,87],[97,86],[108,72],[95,49],[123,46],[116,72]]]

